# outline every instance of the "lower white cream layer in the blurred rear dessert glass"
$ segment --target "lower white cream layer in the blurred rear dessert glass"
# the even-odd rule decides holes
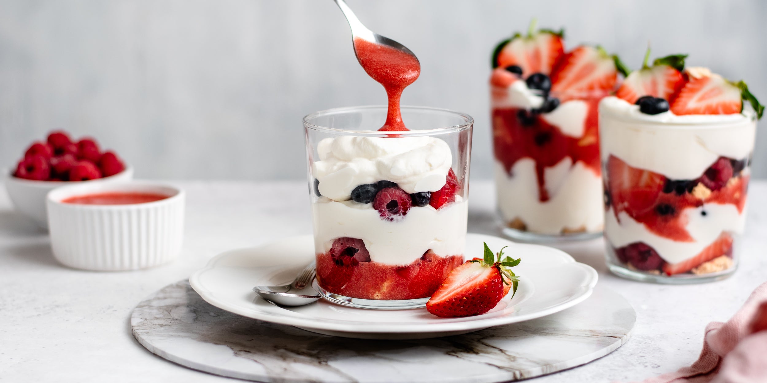
[[[495,161],[495,187],[504,221],[519,218],[528,231],[541,234],[602,230],[604,202],[600,176],[583,162],[572,165],[572,160],[565,157],[545,169],[544,178],[551,198],[541,202],[532,159],[515,162],[510,175],[501,162]]]

